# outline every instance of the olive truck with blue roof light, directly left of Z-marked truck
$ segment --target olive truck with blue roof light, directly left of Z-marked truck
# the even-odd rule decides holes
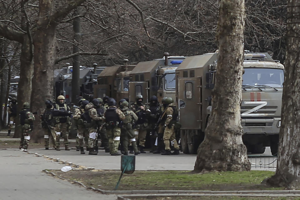
[[[130,104],[134,103],[138,94],[143,96],[143,103],[149,103],[153,95],[158,97],[158,101],[165,96],[175,98],[175,69],[184,58],[164,53],[163,58],[138,63],[130,72]]]

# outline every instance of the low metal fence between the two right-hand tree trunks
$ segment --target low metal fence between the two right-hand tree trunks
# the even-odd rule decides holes
[[[276,168],[277,156],[250,156],[251,168]]]

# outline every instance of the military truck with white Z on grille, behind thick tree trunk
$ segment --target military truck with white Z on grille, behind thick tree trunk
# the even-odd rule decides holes
[[[186,58],[176,69],[176,100],[183,153],[197,153],[211,113],[217,53]],[[284,67],[268,53],[245,53],[241,123],[248,153],[270,146],[277,154]],[[230,97],[228,97],[230,98]],[[188,117],[186,117],[188,116]]]

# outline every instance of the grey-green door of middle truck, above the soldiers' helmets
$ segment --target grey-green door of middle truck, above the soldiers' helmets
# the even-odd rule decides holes
[[[138,94],[143,96],[143,103],[148,103],[149,87],[147,82],[129,82],[129,104],[135,102]]]

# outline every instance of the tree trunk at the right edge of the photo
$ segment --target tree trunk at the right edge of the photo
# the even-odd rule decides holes
[[[287,1],[285,80],[277,169],[263,183],[300,188],[300,0]]]

